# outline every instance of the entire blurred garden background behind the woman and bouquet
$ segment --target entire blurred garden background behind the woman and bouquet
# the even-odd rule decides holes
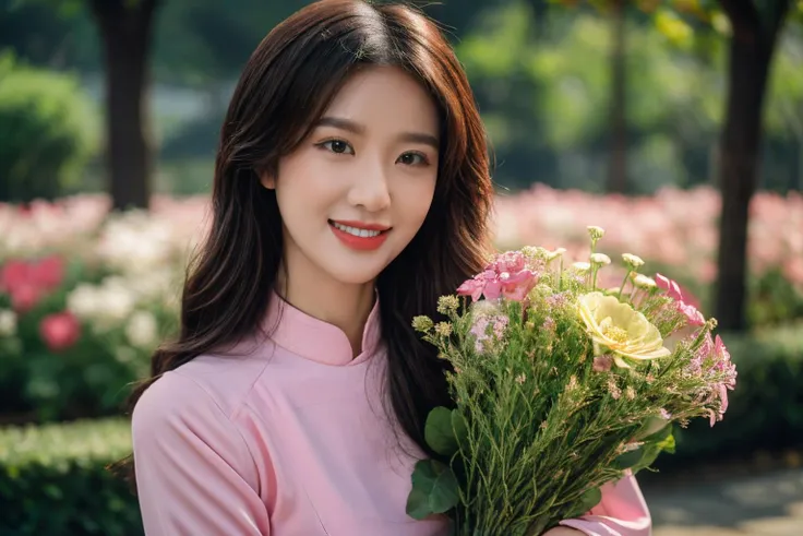
[[[175,330],[220,122],[303,0],[0,0],[0,534],[139,535],[105,471]],[[803,534],[803,1],[442,0],[500,248],[643,257],[715,315],[723,422],[639,474],[657,536]]]

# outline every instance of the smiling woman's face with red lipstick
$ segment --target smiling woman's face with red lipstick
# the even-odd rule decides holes
[[[438,178],[434,103],[403,70],[355,74],[281,158],[276,190],[289,273],[372,282],[416,236]]]

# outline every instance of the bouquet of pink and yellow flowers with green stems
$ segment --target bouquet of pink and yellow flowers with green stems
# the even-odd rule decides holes
[[[451,364],[454,406],[428,416],[440,458],[417,463],[410,516],[447,513],[457,536],[539,535],[672,452],[673,424],[722,418],[736,371],[716,321],[634,254],[620,286],[598,288],[611,260],[588,230],[588,262],[501,253],[439,300],[447,321],[414,319]]]

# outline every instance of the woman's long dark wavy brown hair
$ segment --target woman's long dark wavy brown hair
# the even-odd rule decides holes
[[[278,159],[309,135],[349,75],[376,64],[416,76],[441,119],[432,206],[418,235],[376,283],[392,410],[403,431],[433,454],[423,424],[432,407],[450,404],[444,361],[410,322],[417,314],[438,318],[438,298],[481,270],[493,187],[484,130],[459,62],[438,26],[402,4],[323,0],[260,43],[223,124],[211,230],[189,267],[178,338],[154,354],[152,378],[135,388],[131,408],[165,372],[256,329],[283,254],[276,194],[262,187],[259,172],[275,171]],[[115,469],[131,478],[133,460]]]

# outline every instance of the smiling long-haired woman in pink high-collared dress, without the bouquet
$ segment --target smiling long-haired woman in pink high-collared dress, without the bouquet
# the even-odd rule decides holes
[[[178,342],[134,394],[148,536],[444,534],[406,515],[443,360],[414,333],[483,266],[480,117],[436,27],[400,5],[313,3],[245,65]],[[632,477],[550,536],[640,536]]]

